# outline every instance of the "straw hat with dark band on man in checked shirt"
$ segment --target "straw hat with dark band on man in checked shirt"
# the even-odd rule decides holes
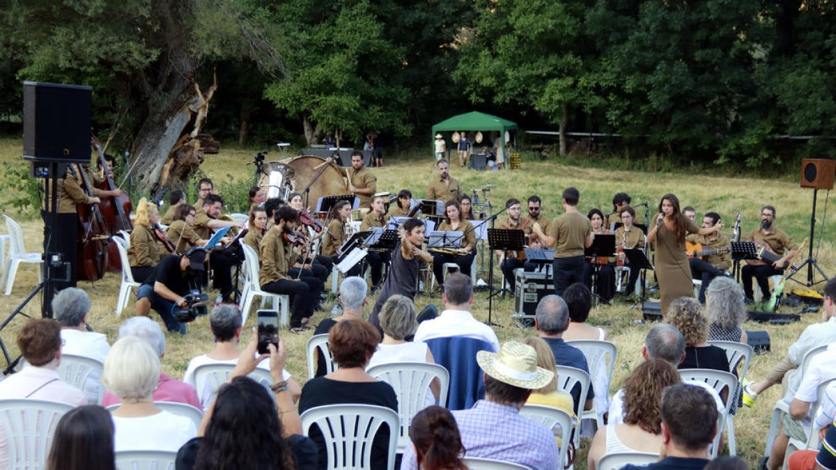
[[[487,375],[508,385],[536,390],[548,385],[554,373],[537,366],[537,351],[529,345],[508,341],[498,353],[479,351],[479,367]]]

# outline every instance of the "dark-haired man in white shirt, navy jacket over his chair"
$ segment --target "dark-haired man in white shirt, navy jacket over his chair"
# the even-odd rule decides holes
[[[499,350],[497,334],[490,326],[473,318],[473,286],[471,278],[461,273],[447,276],[444,283],[444,310],[435,319],[422,321],[415,330],[415,342],[465,336],[490,343],[493,350]]]

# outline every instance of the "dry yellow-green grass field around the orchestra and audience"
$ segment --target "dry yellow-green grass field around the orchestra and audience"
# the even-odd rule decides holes
[[[23,166],[20,159],[22,143],[20,140],[0,139],[0,164],[11,162],[14,166]],[[217,181],[232,178],[251,177],[251,166],[245,163],[251,161],[255,151],[234,150],[222,151],[217,156],[207,156],[202,170]],[[269,159],[269,158],[268,158]],[[426,186],[436,175],[434,161],[430,156],[406,155],[398,158],[387,158],[384,168],[375,169],[378,176],[378,191],[390,191],[393,194],[402,188],[409,188],[415,197],[423,197]],[[646,173],[627,171],[607,171],[601,168],[562,166],[553,162],[523,161],[523,168],[515,171],[475,172],[461,168],[452,168],[452,176],[461,181],[461,187],[471,193],[472,189],[481,189],[492,184],[489,200],[493,207],[504,207],[508,197],[517,197],[524,201],[532,194],[543,198],[543,212],[549,217],[558,215],[560,209],[560,193],[565,186],[576,186],[581,192],[579,208],[585,213],[592,207],[599,207],[603,212],[611,210],[610,200],[615,192],[628,192],[633,197],[633,205],[640,202],[650,202],[651,215],[656,212],[660,197],[673,192],[679,197],[682,206],[696,207],[702,213],[714,210],[721,213],[726,234],[731,233],[734,216],[737,212],[742,216],[743,232],[749,232],[757,227],[758,214],[763,204],[777,207],[777,227],[786,230],[793,240],[801,242],[808,236],[811,202],[813,192],[801,189],[795,176],[783,180],[750,179],[744,175],[735,177],[714,177],[700,174],[681,173]],[[9,181],[9,175],[0,176],[0,201],[7,200],[14,181]],[[222,185],[218,185],[217,192],[223,192]],[[479,192],[480,197],[482,192]],[[820,194],[818,209],[817,237],[814,245],[814,256],[819,259],[825,273],[833,273],[836,268],[834,247],[830,241],[833,222],[825,222],[825,197]],[[43,223],[37,217],[38,211],[29,208],[24,212],[16,212],[12,207],[4,207],[4,212],[22,221],[25,233],[25,243],[30,251],[40,251],[43,243]],[[643,216],[637,218],[643,222]],[[64,234],[59,234],[64,236]],[[66,234],[74,236],[74,234]],[[799,256],[799,260],[806,258],[806,253]],[[480,266],[482,268],[482,266]],[[485,266],[487,270],[487,258]],[[501,279],[497,268],[495,279]],[[480,271],[479,277],[487,281],[487,272]],[[806,274],[799,273],[799,280],[805,280]],[[3,299],[3,317],[23,301],[29,291],[37,283],[36,271],[31,266],[23,266],[18,272],[12,295]],[[115,340],[120,321],[133,314],[132,306],[119,314],[114,313],[116,293],[119,289],[120,276],[109,273],[100,281],[90,284],[81,283],[79,287],[86,289],[94,299],[94,308],[90,314],[90,324],[95,330],[104,332],[109,339]],[[798,286],[798,284],[796,284]],[[440,309],[441,299],[437,296],[419,295],[416,299],[419,309],[428,303],[434,303]],[[370,297],[370,304],[375,296]],[[473,311],[478,319],[487,320],[487,294],[478,292]],[[330,304],[326,304],[330,307]],[[497,329],[501,341],[520,340],[527,335],[533,335],[533,330],[521,329],[512,321],[513,299],[499,299],[492,309],[492,319],[502,328]],[[34,299],[23,309],[25,313],[38,316],[40,313],[39,298]],[[786,311],[786,310],[785,310]],[[247,320],[252,326],[253,317]],[[324,314],[314,318],[322,319]],[[610,332],[610,338],[618,346],[619,356],[615,367],[614,380],[610,393],[620,388],[624,378],[640,361],[640,347],[644,344],[644,337],[650,326],[640,322],[640,309],[630,309],[630,304],[616,303],[614,305],[599,306],[591,315],[590,322],[604,326]],[[769,368],[787,354],[787,348],[801,331],[808,325],[818,321],[818,314],[803,316],[801,322],[787,326],[770,326],[747,323],[747,330],[767,330],[772,339],[772,352],[758,355],[752,361],[748,376],[762,378]],[[24,322],[24,318],[17,317],[0,332],[0,337],[6,343],[9,353],[16,355],[14,345],[16,330]],[[304,345],[309,335],[285,335],[288,342],[289,360],[288,370],[303,384],[307,379],[307,368],[304,358]],[[212,335],[208,329],[208,322],[198,319],[189,324],[186,337],[168,335],[168,346],[163,358],[166,373],[181,377],[189,359],[206,350],[212,349]],[[5,365],[5,364],[3,364]],[[737,452],[750,464],[757,462],[762,455],[765,443],[765,430],[769,425],[772,405],[780,397],[780,387],[773,387],[757,402],[754,409],[742,409],[735,420],[737,427]],[[585,468],[585,449],[579,452],[577,468]]]

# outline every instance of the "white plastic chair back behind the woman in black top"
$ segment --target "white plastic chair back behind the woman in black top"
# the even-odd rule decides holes
[[[398,443],[398,414],[384,406],[342,404],[317,406],[302,413],[302,432],[310,435],[317,425],[328,451],[328,468],[370,470],[371,442],[385,424],[389,427],[387,469],[395,468]]]

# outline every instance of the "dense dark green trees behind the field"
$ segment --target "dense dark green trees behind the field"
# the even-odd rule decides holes
[[[134,158],[217,76],[203,131],[427,146],[468,110],[728,166],[836,153],[836,3],[808,0],[0,0],[0,121],[24,79],[89,84]],[[193,119],[193,117],[192,117]],[[170,140],[171,140],[170,139]],[[151,146],[151,142],[157,147]],[[561,153],[568,140],[561,139]],[[172,140],[173,144],[173,140]]]

